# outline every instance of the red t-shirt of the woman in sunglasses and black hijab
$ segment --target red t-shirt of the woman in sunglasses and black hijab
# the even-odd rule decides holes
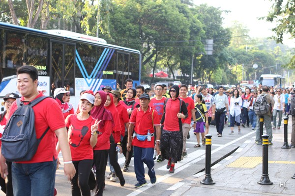
[[[163,129],[168,131],[179,131],[177,113],[180,111],[179,99],[169,98],[165,107],[165,122]]]

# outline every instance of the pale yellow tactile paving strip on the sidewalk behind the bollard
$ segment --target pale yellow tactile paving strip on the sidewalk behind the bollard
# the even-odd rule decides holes
[[[262,163],[262,157],[239,157],[233,163],[226,167],[232,168],[255,168],[258,164]],[[274,164],[295,164],[295,161],[268,161]]]

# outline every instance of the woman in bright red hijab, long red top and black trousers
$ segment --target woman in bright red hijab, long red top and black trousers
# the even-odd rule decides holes
[[[111,169],[111,176],[110,180],[112,182],[116,182],[117,178],[116,175],[119,178],[120,185],[124,186],[125,184],[125,179],[123,177],[123,173],[120,169],[120,165],[118,164],[118,151],[122,153],[122,148],[121,148],[121,123],[119,119],[119,113],[118,110],[114,104],[114,98],[111,93],[107,93],[107,100],[104,104],[105,108],[109,110],[112,113],[113,119],[115,126],[112,129],[112,135],[110,138],[111,146],[109,150],[109,165]],[[117,148],[118,147],[118,151]]]

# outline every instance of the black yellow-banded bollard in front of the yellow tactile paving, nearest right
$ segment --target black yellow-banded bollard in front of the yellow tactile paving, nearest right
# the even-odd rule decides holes
[[[268,137],[269,135],[267,134],[262,136],[262,146],[263,146],[262,176],[261,176],[261,179],[257,182],[258,184],[262,184],[262,185],[273,184],[268,177]]]

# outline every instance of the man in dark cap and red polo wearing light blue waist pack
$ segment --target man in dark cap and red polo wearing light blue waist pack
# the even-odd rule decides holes
[[[144,163],[148,166],[148,176],[152,184],[156,183],[157,178],[154,170],[154,127],[156,128],[156,151],[159,153],[160,147],[160,120],[157,115],[157,111],[151,109],[148,106],[149,96],[144,93],[140,96],[141,107],[133,110],[130,117],[130,124],[128,127],[128,144],[127,149],[131,150],[131,142],[134,147],[134,172],[136,174],[137,184],[135,188],[141,188],[147,185],[145,179]],[[132,140],[133,129],[135,135]],[[139,138],[144,137],[140,140]]]

